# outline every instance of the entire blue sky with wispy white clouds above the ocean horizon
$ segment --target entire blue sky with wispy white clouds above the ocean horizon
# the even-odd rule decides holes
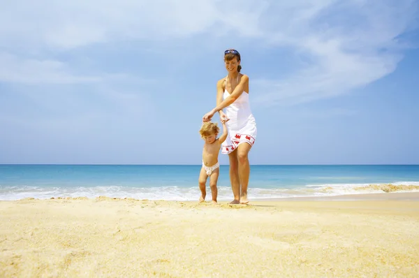
[[[202,116],[234,47],[258,124],[252,164],[418,164],[418,8],[2,3],[0,163],[199,164]]]

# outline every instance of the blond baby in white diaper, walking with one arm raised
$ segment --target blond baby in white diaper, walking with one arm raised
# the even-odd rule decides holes
[[[199,198],[200,202],[205,200],[207,192],[205,191],[205,184],[207,183],[207,178],[210,177],[210,188],[212,194],[212,203],[216,204],[216,182],[219,177],[219,162],[218,156],[221,148],[221,143],[224,142],[227,138],[227,127],[226,122],[228,119],[221,121],[223,124],[223,134],[220,138],[216,138],[219,134],[219,127],[213,122],[204,122],[199,133],[200,136],[205,141],[203,149],[203,167],[200,170],[199,174],[199,189],[201,191],[201,196]]]

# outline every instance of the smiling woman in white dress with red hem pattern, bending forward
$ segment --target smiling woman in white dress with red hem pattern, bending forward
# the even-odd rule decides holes
[[[248,154],[257,133],[256,120],[249,105],[249,77],[240,73],[242,69],[240,61],[240,53],[237,50],[229,49],[224,52],[228,75],[216,83],[216,107],[203,117],[203,121],[208,122],[216,112],[219,112],[221,122],[230,119],[226,123],[228,137],[221,145],[221,153],[228,154],[230,160],[230,182],[234,195],[231,204],[249,203]],[[225,114],[224,108],[226,108]]]

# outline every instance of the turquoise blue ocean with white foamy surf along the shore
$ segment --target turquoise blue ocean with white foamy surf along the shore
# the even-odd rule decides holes
[[[200,165],[0,165],[0,200],[108,196],[198,200]],[[251,166],[249,199],[419,191],[419,165]],[[406,185],[406,186],[404,186]],[[409,185],[411,185],[409,187]],[[411,190],[413,188],[413,190]],[[232,200],[221,165],[218,200]],[[210,198],[209,179],[207,197]]]

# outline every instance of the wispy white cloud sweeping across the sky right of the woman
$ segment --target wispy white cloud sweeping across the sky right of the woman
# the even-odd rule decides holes
[[[288,4],[291,5],[291,4]],[[304,8],[305,7],[305,8]],[[272,45],[306,61],[273,80],[253,80],[258,105],[293,105],[350,92],[395,71],[406,46],[399,36],[418,15],[416,1],[297,1]]]

